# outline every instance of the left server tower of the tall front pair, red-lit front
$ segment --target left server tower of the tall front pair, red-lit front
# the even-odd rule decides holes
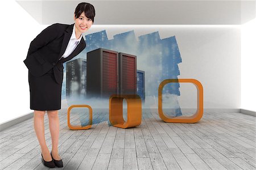
[[[108,98],[118,94],[118,52],[98,48],[87,53],[87,96]]]

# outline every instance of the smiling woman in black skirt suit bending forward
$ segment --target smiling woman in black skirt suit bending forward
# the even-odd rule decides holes
[[[95,10],[90,3],[79,3],[75,9],[75,23],[55,23],[31,41],[27,58],[30,87],[30,109],[34,110],[35,133],[47,167],[63,167],[58,153],[59,117],[63,63],[77,56],[86,46],[82,33],[93,25]],[[51,154],[44,137],[44,114],[47,111],[52,139]]]

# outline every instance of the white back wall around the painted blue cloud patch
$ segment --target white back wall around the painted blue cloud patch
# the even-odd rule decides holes
[[[178,78],[203,84],[204,108],[238,109],[241,103],[241,28],[238,25],[125,25],[94,27],[113,35],[134,30],[135,36],[159,31],[160,39],[175,36],[182,62]],[[137,68],[139,69],[139,68]],[[180,83],[181,108],[196,108],[196,87]],[[156,99],[157,100],[157,99]],[[156,101],[156,107],[158,103]]]

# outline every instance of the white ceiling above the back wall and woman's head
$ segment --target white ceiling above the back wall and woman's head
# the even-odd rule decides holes
[[[40,24],[73,23],[82,1],[16,1]],[[255,18],[255,1],[85,1],[94,24],[243,24]]]

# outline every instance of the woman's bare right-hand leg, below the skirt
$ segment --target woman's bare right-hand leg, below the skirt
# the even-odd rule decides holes
[[[58,153],[58,144],[59,144],[59,133],[60,133],[60,123],[58,111],[47,111],[49,118],[49,130],[52,137],[52,157],[55,160],[60,160]]]

